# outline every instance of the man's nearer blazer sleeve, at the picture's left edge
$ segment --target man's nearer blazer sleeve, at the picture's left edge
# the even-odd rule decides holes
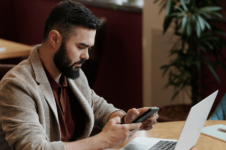
[[[5,140],[15,150],[64,150],[63,142],[49,142],[30,89],[15,79],[0,84],[0,125]]]

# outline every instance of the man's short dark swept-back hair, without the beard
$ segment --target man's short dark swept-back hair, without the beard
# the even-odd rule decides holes
[[[44,28],[43,42],[51,30],[57,30],[64,40],[73,32],[75,27],[86,27],[96,30],[100,20],[82,4],[65,0],[57,4],[50,12]]]

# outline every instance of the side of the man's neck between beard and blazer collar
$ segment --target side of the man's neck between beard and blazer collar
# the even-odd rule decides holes
[[[38,50],[39,57],[42,61],[42,64],[45,66],[46,70],[52,76],[52,78],[59,84],[61,73],[55,66],[53,62],[54,52],[48,45],[41,45]]]

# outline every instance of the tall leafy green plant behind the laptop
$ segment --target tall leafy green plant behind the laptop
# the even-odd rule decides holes
[[[219,5],[220,0],[161,0],[160,11],[166,9],[164,33],[173,22],[174,35],[179,37],[179,41],[170,50],[174,59],[161,67],[163,75],[168,75],[166,87],[173,86],[175,89],[172,99],[181,90],[191,87],[192,104],[199,102],[200,70],[203,65],[220,82],[215,68],[226,68],[222,58],[226,34],[216,26],[222,18],[218,12],[221,10]]]

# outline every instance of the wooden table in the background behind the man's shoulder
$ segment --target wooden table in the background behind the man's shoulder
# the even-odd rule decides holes
[[[0,47],[5,47],[6,50],[0,52],[0,59],[26,57],[29,56],[32,46],[20,44],[4,39],[0,39]]]

